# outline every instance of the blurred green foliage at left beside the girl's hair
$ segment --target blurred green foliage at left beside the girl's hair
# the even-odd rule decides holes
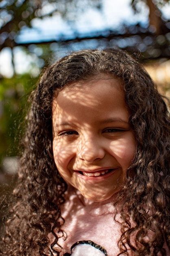
[[[36,81],[37,78],[28,74],[0,80],[0,160],[7,154],[15,156],[18,153],[21,122],[28,95]]]

